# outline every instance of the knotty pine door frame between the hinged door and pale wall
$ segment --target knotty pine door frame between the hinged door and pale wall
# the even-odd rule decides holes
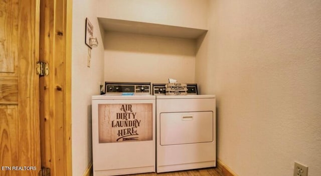
[[[52,176],[72,175],[71,7],[71,0],[40,4],[39,55],[49,65],[49,75],[39,79],[41,164]]]

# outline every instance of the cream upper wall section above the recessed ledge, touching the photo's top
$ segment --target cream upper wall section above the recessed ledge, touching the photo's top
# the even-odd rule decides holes
[[[207,29],[208,0],[99,0],[98,17]]]

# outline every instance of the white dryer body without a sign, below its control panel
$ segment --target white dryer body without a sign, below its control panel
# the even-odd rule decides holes
[[[216,166],[215,95],[156,96],[156,171]]]

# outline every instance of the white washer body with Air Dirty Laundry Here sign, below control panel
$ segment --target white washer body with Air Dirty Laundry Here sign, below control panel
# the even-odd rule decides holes
[[[93,175],[155,172],[155,96],[92,96]]]

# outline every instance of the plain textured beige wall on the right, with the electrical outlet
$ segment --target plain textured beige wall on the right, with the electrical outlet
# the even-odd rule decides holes
[[[294,161],[320,175],[321,2],[209,9],[196,81],[217,95],[218,159],[239,176],[292,175]]]

